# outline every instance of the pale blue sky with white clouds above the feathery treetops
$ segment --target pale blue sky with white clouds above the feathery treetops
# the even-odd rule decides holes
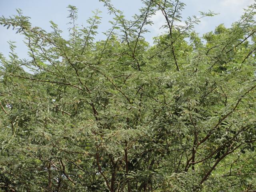
[[[254,3],[254,0],[181,0],[186,4],[185,9],[182,12],[182,17],[186,19],[188,16],[199,16],[199,11],[207,12],[211,10],[218,15],[210,18],[203,18],[195,27],[196,32],[202,36],[202,34],[210,31],[214,31],[214,28],[219,24],[224,24],[230,27],[231,24],[239,20],[240,16],[244,12],[244,8]],[[102,32],[105,32],[110,28],[108,23],[112,16],[108,14],[108,10],[103,6],[99,0],[0,0],[0,16],[12,16],[16,14],[16,8],[22,9],[24,16],[31,17],[30,22],[32,26],[38,26],[42,29],[50,32],[50,20],[58,24],[59,28],[64,32],[64,37],[68,37],[68,8],[71,4],[78,8],[78,24],[86,26],[86,20],[93,15],[93,10],[100,10],[102,13],[101,24],[99,25],[99,34],[96,36],[96,40],[104,39]],[[126,18],[132,18],[132,16],[138,13],[138,9],[143,5],[140,0],[112,0],[112,4],[122,10]],[[160,27],[164,24],[164,17],[160,12],[157,12],[151,19],[154,25],[148,27],[150,33],[144,37],[150,43],[152,38],[163,32]],[[15,34],[12,28],[8,30],[6,27],[0,25],[0,52],[4,56],[8,56],[9,44],[7,41],[16,42],[16,53],[20,58],[28,58],[27,48],[22,43],[24,37],[20,34]]]

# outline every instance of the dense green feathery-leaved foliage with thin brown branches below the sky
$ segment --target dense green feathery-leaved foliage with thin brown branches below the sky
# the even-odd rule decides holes
[[[29,18],[0,18],[25,36],[30,59],[0,55],[0,190],[187,192],[256,190],[256,20],[200,38],[179,0],[143,0],[113,15],[96,42],[69,6],[70,38]],[[166,33],[143,38],[156,12]],[[25,70],[24,70],[25,67]]]

